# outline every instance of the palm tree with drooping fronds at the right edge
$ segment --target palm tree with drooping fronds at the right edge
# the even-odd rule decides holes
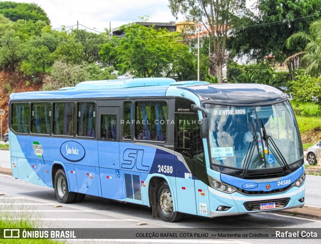
[[[304,52],[294,54],[287,60],[291,61],[295,57],[303,55],[302,62],[307,65],[305,75],[321,77],[321,19],[311,23],[309,33],[298,32],[290,36],[287,46],[294,46],[300,41],[306,42]]]

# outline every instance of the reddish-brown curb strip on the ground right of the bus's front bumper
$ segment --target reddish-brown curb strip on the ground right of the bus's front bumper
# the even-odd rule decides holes
[[[310,218],[310,219],[321,219],[321,208],[313,206],[304,206],[302,208],[291,208],[285,210],[275,211],[279,214]]]

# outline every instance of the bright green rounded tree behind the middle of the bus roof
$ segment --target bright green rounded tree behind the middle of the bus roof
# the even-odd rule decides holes
[[[104,44],[99,56],[104,62],[114,64],[120,74],[195,79],[195,57],[180,40],[179,33],[137,24],[127,28],[123,38],[113,38]]]

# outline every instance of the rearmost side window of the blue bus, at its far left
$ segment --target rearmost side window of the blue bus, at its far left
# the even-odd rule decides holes
[[[11,115],[11,128],[17,133],[29,133],[30,130],[30,104],[13,103]]]

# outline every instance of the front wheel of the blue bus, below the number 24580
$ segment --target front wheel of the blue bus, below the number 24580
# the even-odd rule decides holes
[[[164,182],[157,191],[156,209],[159,216],[166,222],[177,222],[183,218],[183,213],[174,211],[173,197],[170,186]]]

